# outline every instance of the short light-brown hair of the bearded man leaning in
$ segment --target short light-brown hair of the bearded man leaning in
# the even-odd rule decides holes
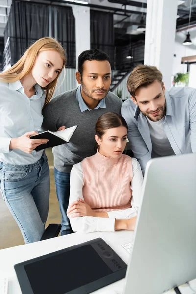
[[[140,87],[147,87],[155,81],[159,81],[162,86],[162,73],[155,67],[150,65],[136,66],[127,80],[127,90],[135,98],[135,92]]]

